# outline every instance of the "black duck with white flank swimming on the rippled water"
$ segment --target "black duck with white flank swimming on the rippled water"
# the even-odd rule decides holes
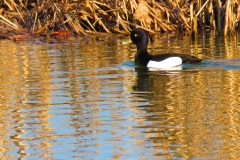
[[[130,32],[130,40],[137,46],[135,63],[151,68],[172,68],[183,63],[199,63],[202,59],[181,53],[162,53],[151,55],[148,53],[149,33],[143,28],[135,28]]]

